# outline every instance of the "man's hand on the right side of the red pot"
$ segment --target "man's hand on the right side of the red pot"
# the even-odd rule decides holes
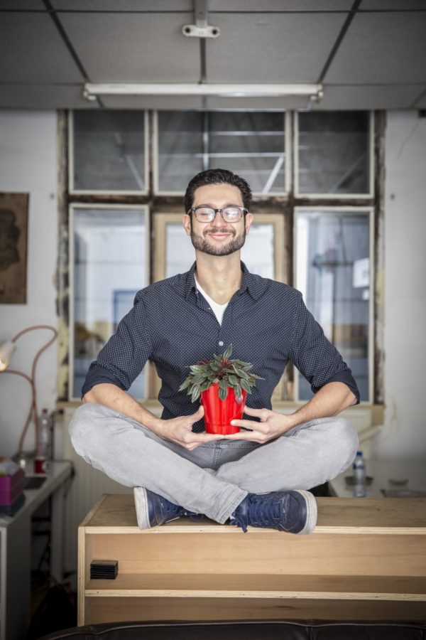
[[[261,419],[261,422],[254,422],[253,420],[231,420],[231,425],[234,427],[245,427],[250,431],[240,431],[231,435],[223,436],[229,440],[251,440],[252,442],[258,442],[264,444],[269,440],[280,437],[286,431],[292,429],[295,426],[293,416],[283,415],[270,409],[251,409],[251,407],[244,407],[244,413],[247,415],[253,415]]]

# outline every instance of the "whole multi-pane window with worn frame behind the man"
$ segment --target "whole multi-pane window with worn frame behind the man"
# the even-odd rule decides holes
[[[71,339],[62,398],[80,398],[90,362],[138,289],[190,268],[183,193],[198,171],[219,166],[244,176],[254,193],[255,221],[242,259],[253,272],[302,291],[353,370],[361,400],[373,402],[379,117],[277,110],[71,114],[65,194]],[[65,279],[63,289],[66,297]],[[155,399],[158,384],[147,365],[131,394]],[[273,401],[304,402],[311,393],[288,366]]]

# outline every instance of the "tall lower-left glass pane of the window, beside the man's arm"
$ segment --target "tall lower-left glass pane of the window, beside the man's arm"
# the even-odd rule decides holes
[[[74,210],[73,398],[80,398],[90,363],[146,287],[145,215],[134,209]],[[144,372],[129,393],[144,397]]]

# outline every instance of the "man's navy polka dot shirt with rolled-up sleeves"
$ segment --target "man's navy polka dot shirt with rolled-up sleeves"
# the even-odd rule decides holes
[[[297,289],[252,274],[241,262],[241,288],[229,301],[221,326],[197,291],[195,268],[194,263],[190,271],[155,282],[136,294],[133,309],[92,362],[82,395],[99,383],[129,390],[151,360],[163,382],[158,394],[162,417],[190,415],[199,403],[192,403],[186,391],[178,391],[188,367],[222,353],[232,343],[232,357],[251,362],[253,373],[265,378],[257,380],[247,396],[249,407],[271,409],[271,395],[288,361],[310,382],[314,393],[339,381],[359,402],[351,370],[324,336]],[[203,420],[193,430],[204,430]]]

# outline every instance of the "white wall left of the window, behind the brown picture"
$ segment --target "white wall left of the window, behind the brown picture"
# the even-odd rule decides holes
[[[29,193],[27,304],[0,304],[0,341],[34,324],[56,326],[57,257],[56,114],[0,110],[0,191]],[[18,339],[13,368],[31,372],[33,356],[52,336],[32,331]],[[38,406],[53,409],[56,392],[56,343],[40,356]],[[30,406],[30,388],[17,375],[0,374],[0,455],[16,452]],[[25,448],[34,445],[33,429]]]

